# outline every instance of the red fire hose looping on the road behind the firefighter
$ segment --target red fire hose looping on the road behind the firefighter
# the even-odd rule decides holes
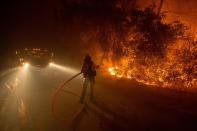
[[[81,111],[83,110],[84,104],[82,104],[82,105],[80,106],[79,110],[78,110],[77,112],[75,112],[72,116],[69,116],[69,117],[66,117],[66,118],[59,116],[59,115],[56,113],[56,111],[55,111],[55,101],[56,101],[56,98],[57,98],[58,94],[60,93],[60,91],[61,91],[70,81],[72,81],[74,78],[76,78],[76,77],[79,76],[80,74],[81,74],[81,72],[78,73],[78,74],[76,74],[76,75],[74,75],[73,77],[71,77],[70,79],[68,79],[67,81],[65,81],[65,82],[56,90],[56,92],[55,92],[55,94],[54,94],[54,96],[53,96],[53,99],[52,99],[52,113],[53,113],[54,117],[55,117],[57,120],[60,120],[60,121],[71,121],[71,120],[75,119],[75,118],[81,113]],[[71,92],[68,92],[68,93],[71,93]],[[73,94],[73,93],[71,93],[71,94]],[[73,94],[73,95],[74,95],[74,94]]]

